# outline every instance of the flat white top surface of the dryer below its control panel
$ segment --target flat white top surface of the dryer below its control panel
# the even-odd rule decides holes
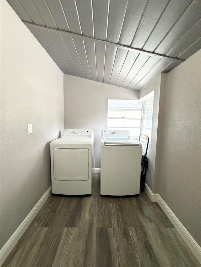
[[[56,140],[53,140],[50,143],[50,146],[54,147],[92,147],[94,142],[93,137],[79,137],[79,136],[72,136],[72,137],[61,137]]]

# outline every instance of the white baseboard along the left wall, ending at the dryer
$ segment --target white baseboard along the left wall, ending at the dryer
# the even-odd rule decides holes
[[[6,244],[0,250],[0,266],[3,264],[5,259],[8,257],[10,252],[13,250],[14,246],[17,244],[21,236],[24,234],[30,223],[35,218],[36,214],[42,208],[43,204],[46,202],[47,198],[51,194],[51,186],[47,189],[41,199],[36,203],[34,208],[30,211],[30,213],[26,216],[24,221],[19,225],[19,227],[15,230],[12,236],[8,239]]]

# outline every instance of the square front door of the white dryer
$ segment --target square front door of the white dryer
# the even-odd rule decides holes
[[[89,149],[53,149],[54,179],[86,181],[89,179]]]

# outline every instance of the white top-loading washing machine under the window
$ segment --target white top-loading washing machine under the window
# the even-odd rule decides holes
[[[139,195],[142,145],[127,130],[101,131],[100,194]]]

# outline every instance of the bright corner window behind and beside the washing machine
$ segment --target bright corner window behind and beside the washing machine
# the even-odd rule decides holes
[[[108,100],[107,129],[129,130],[133,137],[148,134],[151,139],[153,98],[137,100]]]

